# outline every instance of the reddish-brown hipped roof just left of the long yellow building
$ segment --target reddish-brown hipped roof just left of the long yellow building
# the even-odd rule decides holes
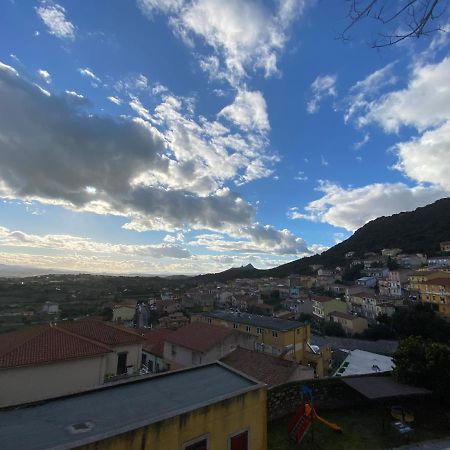
[[[198,352],[207,352],[236,330],[202,322],[192,322],[174,331],[166,342]]]

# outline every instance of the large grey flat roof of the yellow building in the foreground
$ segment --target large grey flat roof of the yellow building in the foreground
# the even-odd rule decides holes
[[[118,383],[43,404],[3,409],[0,410],[0,448],[72,449],[262,386],[264,384],[224,364],[213,363]],[[88,430],[74,433],[70,427],[77,424],[86,424]],[[80,429],[80,426],[75,428]]]

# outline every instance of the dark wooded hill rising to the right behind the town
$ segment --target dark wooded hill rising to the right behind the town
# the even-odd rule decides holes
[[[443,198],[415,211],[379,217],[366,223],[347,240],[335,245],[320,255],[297,259],[268,270],[245,268],[229,269],[216,274],[196,277],[199,281],[228,281],[247,277],[284,277],[293,273],[309,273],[311,264],[334,267],[345,263],[345,254],[356,255],[380,252],[384,248],[401,248],[405,253],[439,252],[439,243],[450,240],[450,198]]]

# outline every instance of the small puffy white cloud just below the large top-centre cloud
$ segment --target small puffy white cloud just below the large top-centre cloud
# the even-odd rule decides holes
[[[240,90],[231,105],[219,112],[241,129],[268,131],[270,129],[267,104],[260,91]]]

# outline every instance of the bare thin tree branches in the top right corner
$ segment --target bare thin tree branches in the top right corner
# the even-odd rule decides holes
[[[405,39],[446,31],[448,0],[348,0],[350,23],[340,35],[348,39],[350,31],[364,19],[373,19],[382,31],[372,47],[395,45]]]

